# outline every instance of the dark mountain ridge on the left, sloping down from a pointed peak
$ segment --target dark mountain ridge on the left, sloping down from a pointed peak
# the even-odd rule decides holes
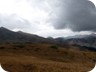
[[[47,42],[48,40],[34,34],[28,34],[21,31],[13,32],[4,27],[0,27],[0,42]]]

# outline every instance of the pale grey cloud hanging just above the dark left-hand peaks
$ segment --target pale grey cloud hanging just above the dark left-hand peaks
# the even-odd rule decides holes
[[[12,15],[0,15],[0,26],[9,28],[9,29],[24,29],[30,27],[30,23],[20,18],[19,16]]]

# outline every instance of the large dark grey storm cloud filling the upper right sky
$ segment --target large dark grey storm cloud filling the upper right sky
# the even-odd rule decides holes
[[[70,28],[73,31],[96,31],[96,9],[91,1],[60,0],[54,6],[51,15],[56,29]]]

